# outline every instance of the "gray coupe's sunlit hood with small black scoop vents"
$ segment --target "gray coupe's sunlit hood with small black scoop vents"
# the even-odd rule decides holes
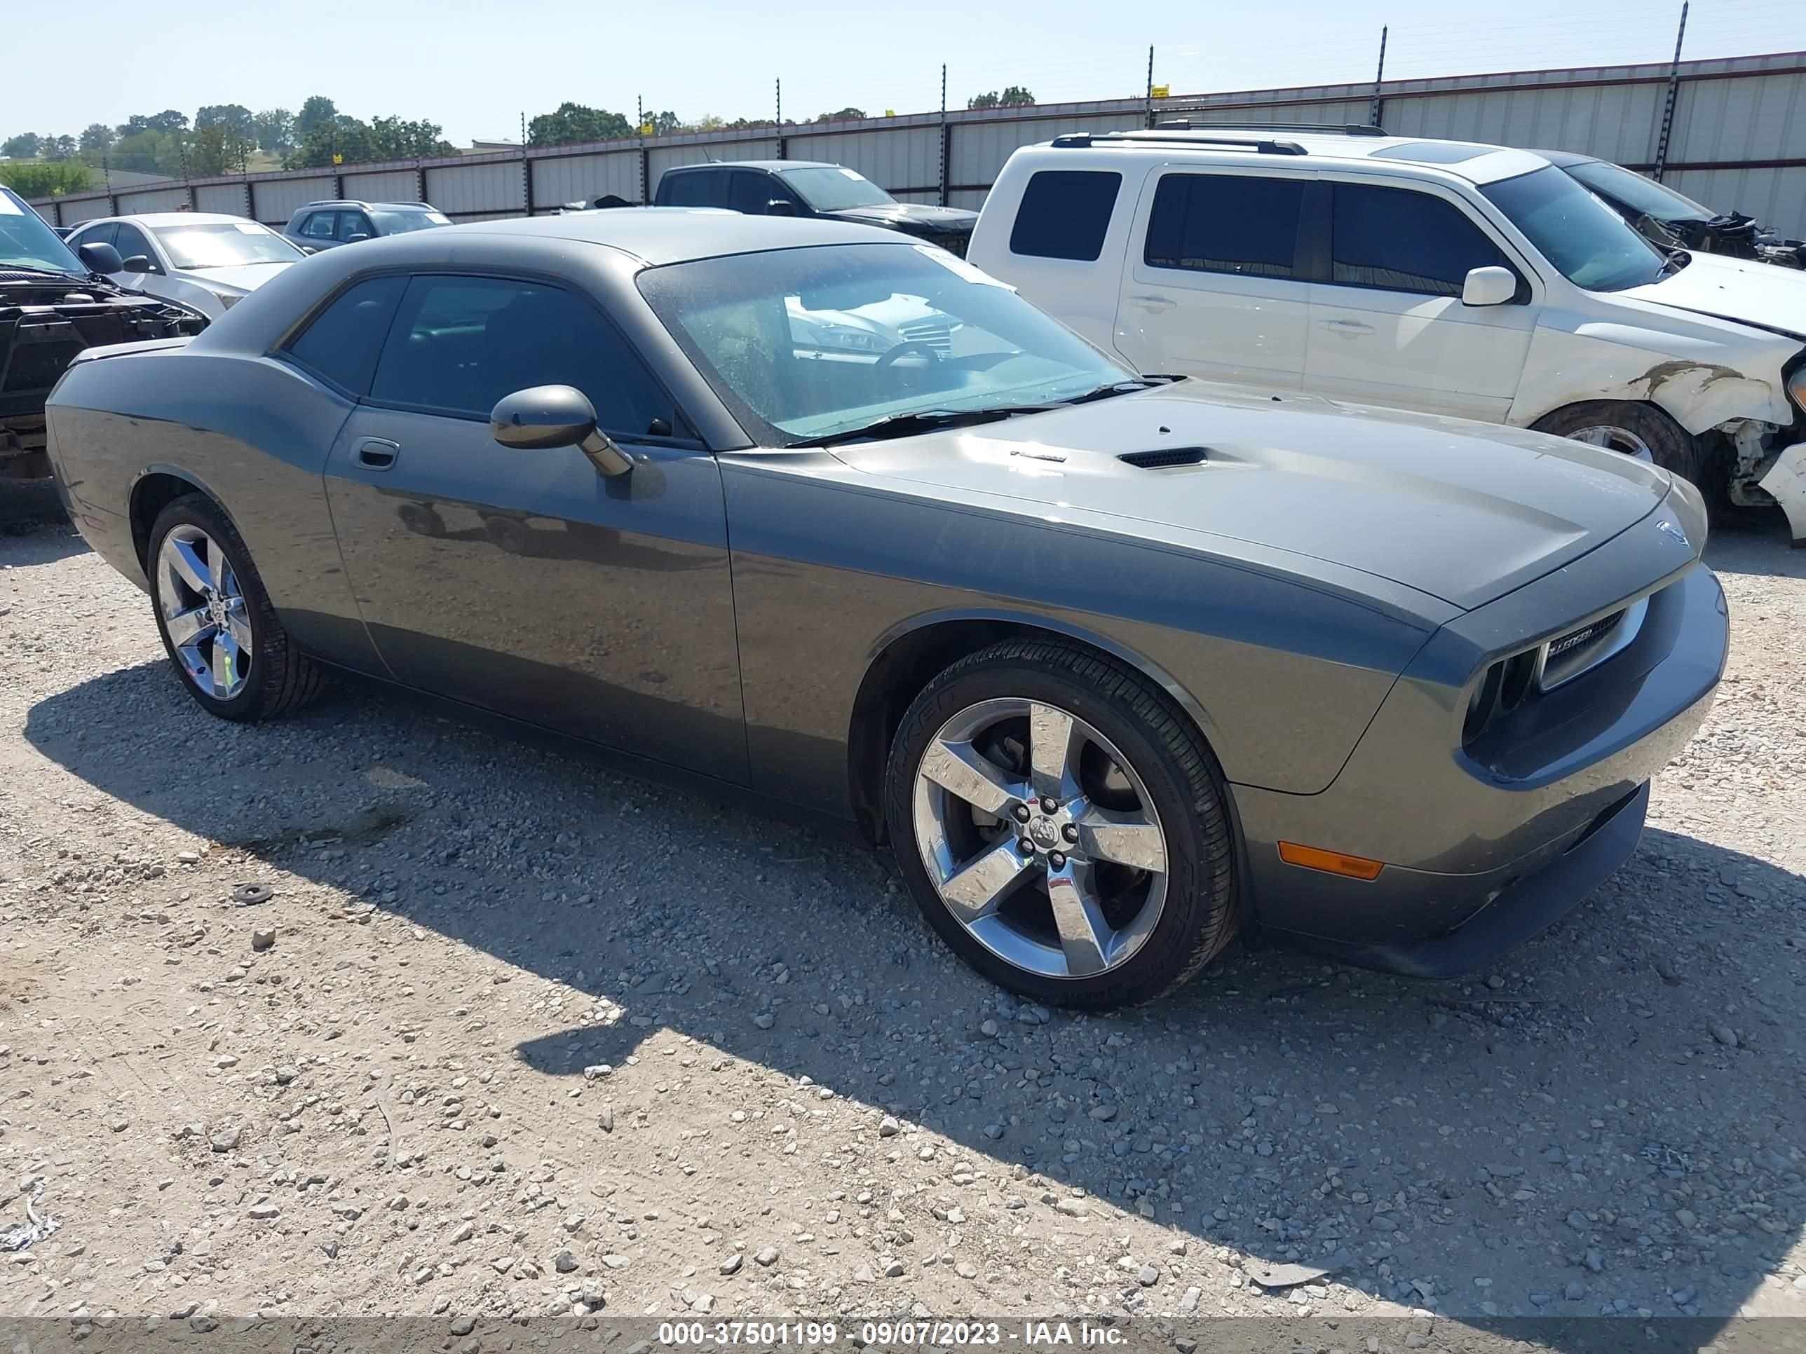
[[[1185,448],[1203,460],[1118,459]],[[1669,493],[1665,471],[1560,437],[1201,383],[834,455],[961,496],[1102,515],[1134,534],[1206,533],[1230,556],[1235,542],[1286,551],[1465,610],[1602,545]]]

